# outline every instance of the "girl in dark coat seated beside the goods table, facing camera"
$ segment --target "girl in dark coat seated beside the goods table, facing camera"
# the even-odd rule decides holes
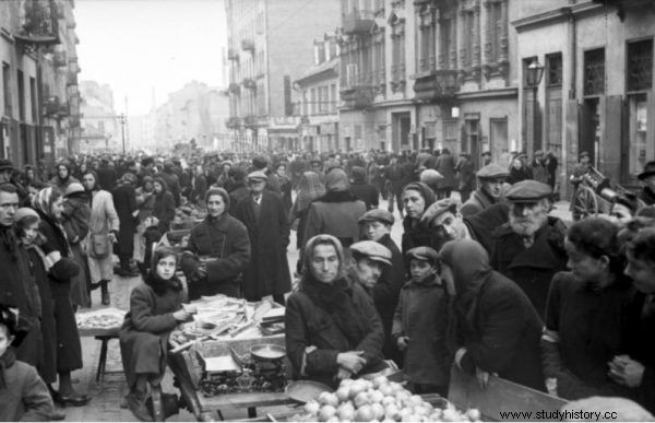
[[[152,270],[144,283],[130,295],[130,312],[120,330],[120,352],[130,392],[128,407],[140,420],[151,421],[145,399],[147,384],[153,392],[155,414],[159,383],[166,371],[168,336],[191,316],[182,308],[182,284],[175,275],[176,252],[167,247],[155,250]]]

